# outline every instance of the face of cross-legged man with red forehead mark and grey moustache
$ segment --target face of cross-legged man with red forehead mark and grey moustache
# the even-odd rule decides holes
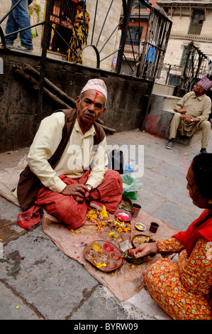
[[[96,119],[101,117],[106,108],[104,104],[106,99],[101,92],[96,90],[87,90],[84,92],[82,100],[80,101],[79,96],[76,99],[77,105],[77,120],[79,124],[87,124],[92,126]]]

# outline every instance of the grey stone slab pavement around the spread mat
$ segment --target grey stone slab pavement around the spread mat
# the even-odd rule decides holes
[[[186,190],[186,172],[200,144],[174,144],[145,131],[108,135],[108,145],[144,149],[143,183],[137,193],[142,210],[179,230],[202,212]],[[15,167],[28,149],[0,154],[0,171]],[[212,152],[212,139],[208,146]],[[142,161],[142,153],[138,159]],[[18,227],[21,209],[0,196],[0,319],[1,320],[125,320],[116,298],[102,296],[101,284],[84,266],[67,257],[42,231]],[[4,254],[4,257],[2,256]],[[3,258],[2,258],[3,257]]]

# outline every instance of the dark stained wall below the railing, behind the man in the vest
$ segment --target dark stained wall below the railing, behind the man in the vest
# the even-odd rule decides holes
[[[61,109],[61,106],[45,96],[43,111],[39,115],[38,90],[33,90],[14,72],[16,66],[25,63],[40,72],[38,55],[0,49],[0,59],[4,64],[4,71],[0,74],[0,151],[8,151],[30,146],[39,125],[38,119]],[[73,99],[79,95],[87,80],[101,77],[108,87],[107,111],[102,117],[104,125],[116,131],[143,126],[151,82],[52,59],[47,59],[46,77]]]

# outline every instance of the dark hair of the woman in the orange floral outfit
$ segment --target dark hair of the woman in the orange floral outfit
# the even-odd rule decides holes
[[[201,195],[210,200],[212,198],[212,153],[201,153],[195,156],[191,168]]]

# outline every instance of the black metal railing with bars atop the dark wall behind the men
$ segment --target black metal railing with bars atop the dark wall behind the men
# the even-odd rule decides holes
[[[18,6],[18,4],[22,0],[19,0],[15,6],[13,6],[10,11],[1,18],[0,21],[0,37],[1,37],[1,44],[3,45],[3,48],[6,49],[6,43],[5,43],[5,37],[10,36],[12,33],[5,34],[1,28],[1,23],[9,16],[11,11]],[[69,6],[67,3],[67,11],[69,12],[69,17],[71,18],[72,22],[72,14],[69,10]],[[95,6],[95,16],[94,16],[94,24],[93,24],[93,30],[91,32],[91,44],[86,44],[82,46],[79,49],[79,52],[76,53],[72,48],[69,46],[69,43],[65,41],[65,39],[61,36],[61,34],[57,31],[57,29],[52,25],[50,21],[50,15],[51,15],[51,9],[52,9],[52,3],[53,0],[46,1],[46,7],[45,7],[45,21],[41,21],[39,23],[34,24],[33,26],[28,26],[26,28],[23,28],[19,31],[16,31],[15,33],[20,33],[21,31],[25,31],[27,29],[33,28],[35,26],[43,26],[43,39],[42,39],[42,54],[41,54],[41,61],[40,61],[40,82],[39,82],[39,95],[38,95],[38,115],[42,114],[42,108],[43,108],[43,88],[44,88],[44,81],[45,81],[45,64],[46,64],[46,57],[48,52],[48,45],[49,45],[49,36],[50,36],[50,29],[53,29],[55,33],[57,33],[57,36],[61,39],[62,43],[65,43],[67,48],[69,48],[75,55],[74,63],[77,63],[77,60],[79,58],[79,55],[84,51],[85,48],[91,47],[94,48],[96,53],[96,68],[100,68],[100,63],[105,60],[106,58],[110,57],[114,53],[118,53],[117,55],[117,62],[116,62],[116,68],[115,72],[119,74],[121,72],[121,67],[123,64],[123,59],[126,59],[125,57],[125,40],[128,34],[129,30],[129,23],[130,23],[130,15],[132,9],[135,8],[135,6],[139,6],[139,17],[138,17],[138,24],[140,26],[140,9],[143,7],[146,7],[149,10],[149,19],[147,23],[147,33],[145,36],[145,41],[143,43],[143,50],[138,56],[138,59],[135,60],[135,68],[136,70],[134,73],[132,72],[132,76],[143,78],[144,80],[151,80],[154,81],[155,77],[157,75],[160,75],[160,70],[162,68],[162,63],[164,59],[164,53],[167,48],[167,42],[169,38],[169,33],[171,30],[172,22],[169,21],[169,19],[160,13],[160,11],[157,11],[155,8],[152,8],[149,4],[147,4],[144,0],[139,0],[138,4],[135,4],[133,6],[133,0],[122,0],[123,4],[123,15],[120,18],[120,21],[116,25],[116,28],[114,28],[113,32],[110,36],[108,36],[106,42],[104,45],[99,48],[99,41],[101,38],[101,35],[104,31],[104,28],[106,29],[106,20],[108,18],[108,14],[111,11],[111,6],[113,4],[114,0],[111,0],[111,3],[108,7],[108,10],[106,12],[106,16],[104,18],[104,21],[102,23],[101,30],[99,32],[99,37],[96,40],[96,43],[94,43],[94,31],[96,31],[96,12],[98,9],[98,0],[96,0],[96,6]],[[73,24],[74,26],[74,24]],[[114,50],[113,53],[104,56],[104,58],[101,58],[101,51],[105,48],[106,43],[111,39],[113,36],[113,33],[115,33],[118,29],[118,27],[121,26],[121,41],[119,44],[119,47],[117,50]],[[13,32],[14,33],[14,32]],[[104,34],[106,35],[106,33]],[[148,36],[152,36],[152,39],[150,40]],[[140,38],[140,36],[139,36]],[[131,43],[132,49],[135,47],[133,43]],[[79,42],[80,45],[80,42]],[[154,50],[154,55],[150,55],[150,49]],[[150,57],[148,58],[148,56]],[[153,59],[153,61],[152,61]],[[129,64],[130,65],[130,64]],[[130,65],[130,69],[133,70],[132,65]]]

